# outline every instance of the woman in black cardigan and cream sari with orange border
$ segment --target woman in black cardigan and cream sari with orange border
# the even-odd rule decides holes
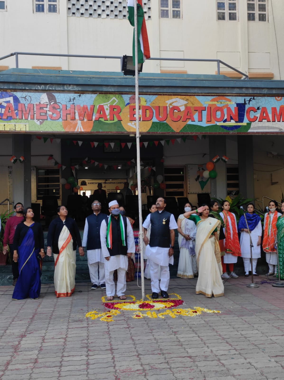
[[[47,255],[54,255],[54,287],[56,297],[70,297],[75,290],[76,247],[84,256],[79,228],[68,218],[65,206],[57,209],[58,218],[52,220],[47,234]]]

